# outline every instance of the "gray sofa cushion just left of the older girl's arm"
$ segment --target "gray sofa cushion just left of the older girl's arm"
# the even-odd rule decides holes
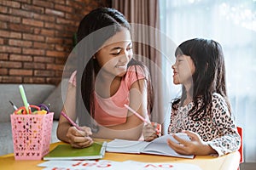
[[[63,104],[67,95],[67,84],[68,79],[62,79],[62,81],[58,84],[57,88],[55,88],[53,93],[44,100],[44,104],[49,105],[49,111],[53,111],[55,113],[55,120],[59,120]]]

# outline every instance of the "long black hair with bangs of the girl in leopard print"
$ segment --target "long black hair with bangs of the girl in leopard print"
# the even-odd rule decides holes
[[[227,98],[224,54],[221,45],[213,40],[195,38],[181,43],[175,52],[175,56],[185,54],[190,56],[195,65],[195,73],[192,75],[193,86],[189,89],[195,105],[189,111],[193,120],[201,120],[212,109],[212,94],[221,94],[229,107]],[[179,104],[186,99],[186,90],[182,86],[180,99],[172,101],[172,109],[177,110]],[[200,101],[202,101],[200,103]]]

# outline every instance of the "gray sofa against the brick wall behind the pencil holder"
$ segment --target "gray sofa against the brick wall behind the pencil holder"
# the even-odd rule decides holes
[[[67,80],[57,87],[49,84],[23,84],[23,87],[29,104],[49,105],[49,110],[54,112],[51,143],[59,141],[56,137],[56,127],[66,95]],[[14,152],[10,115],[15,109],[9,101],[17,107],[23,105],[19,84],[0,84],[0,156]]]

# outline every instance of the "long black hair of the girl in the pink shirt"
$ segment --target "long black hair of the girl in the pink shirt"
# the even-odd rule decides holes
[[[113,8],[96,8],[81,20],[78,30],[79,59],[77,73],[77,113],[79,124],[93,125],[95,114],[95,82],[99,65],[93,55],[102,47],[108,38],[113,37],[121,29],[131,31],[131,26],[125,16]],[[153,107],[153,88],[151,86],[148,69],[139,61],[131,59],[131,65],[141,66],[148,82],[148,113]],[[85,67],[85,68],[84,68]],[[83,69],[82,69],[83,68]],[[79,93],[81,95],[79,96]],[[84,108],[85,106],[85,108]],[[85,112],[85,113],[84,113]],[[87,114],[86,114],[87,113]]]

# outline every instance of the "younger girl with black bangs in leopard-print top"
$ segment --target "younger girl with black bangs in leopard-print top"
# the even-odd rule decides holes
[[[218,155],[239,149],[240,136],[231,117],[225,85],[225,66],[218,42],[191,39],[180,44],[172,65],[173,83],[182,84],[182,94],[172,102],[168,133],[187,133],[191,141],[173,134],[179,144],[168,140],[183,155]],[[146,140],[156,138],[153,127],[145,126]]]

